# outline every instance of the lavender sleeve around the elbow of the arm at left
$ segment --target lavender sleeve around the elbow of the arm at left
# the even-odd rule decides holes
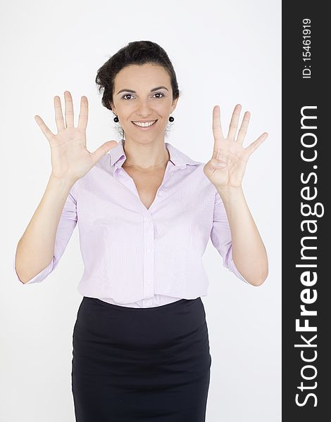
[[[20,280],[16,268],[15,268],[15,257],[16,257],[16,250],[14,251],[14,257],[13,257],[13,270],[16,276],[16,279],[20,282],[20,284],[27,285],[32,283],[40,283],[46,277],[51,274],[52,271],[57,267],[59,260],[61,259],[61,256],[63,255],[63,252],[65,251],[65,248],[68,245],[68,242],[70,240],[71,235],[73,234],[73,230],[75,229],[75,226],[77,224],[77,182],[73,185],[73,187],[70,189],[70,192],[68,194],[68,198],[65,200],[65,205],[63,207],[63,211],[61,214],[60,221],[58,222],[58,229],[56,231],[56,238],[55,238],[55,244],[54,244],[54,256],[51,262],[47,265],[46,268],[44,268],[42,271],[40,271],[38,274],[36,274],[33,279],[30,279],[27,281],[27,283],[23,283],[23,281]]]

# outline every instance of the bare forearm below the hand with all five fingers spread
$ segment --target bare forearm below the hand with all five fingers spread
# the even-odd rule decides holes
[[[15,269],[23,283],[30,281],[53,259],[58,223],[73,184],[49,177],[44,196],[16,249]]]

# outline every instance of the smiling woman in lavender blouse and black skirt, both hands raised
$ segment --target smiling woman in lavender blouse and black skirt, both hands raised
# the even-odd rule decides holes
[[[51,146],[52,172],[18,244],[18,279],[44,280],[78,222],[85,271],[73,332],[76,420],[202,422],[211,355],[201,257],[211,237],[239,279],[252,286],[266,279],[266,250],[242,178],[267,134],[242,146],[246,112],[235,140],[237,105],[225,138],[215,106],[206,164],[165,142],[179,90],[167,54],[151,41],[120,49],[99,69],[96,83],[122,139],[89,153],[87,98],[74,127],[68,91],[65,122],[54,97],[58,134],[35,116]]]

